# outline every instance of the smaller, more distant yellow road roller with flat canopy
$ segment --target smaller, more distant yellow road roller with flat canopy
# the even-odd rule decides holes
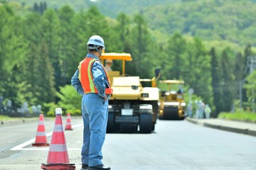
[[[168,91],[160,90],[159,119],[183,120],[185,118],[186,103],[183,99],[183,80],[161,80],[161,84],[168,85]]]

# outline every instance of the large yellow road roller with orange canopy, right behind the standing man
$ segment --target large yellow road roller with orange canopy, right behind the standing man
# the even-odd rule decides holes
[[[139,132],[151,133],[154,130],[157,114],[159,89],[156,77],[140,79],[138,76],[125,74],[125,62],[132,61],[129,53],[102,53],[102,63],[105,60],[122,60],[122,74],[119,71],[107,72],[113,93],[109,98],[109,113],[107,132]],[[142,82],[150,82],[150,87],[142,86]]]

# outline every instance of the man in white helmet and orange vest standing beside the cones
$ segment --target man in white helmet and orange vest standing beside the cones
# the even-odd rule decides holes
[[[87,55],[71,79],[72,86],[82,95],[82,169],[110,169],[102,164],[108,98],[112,94],[107,71],[100,61],[104,49],[104,40],[98,35],[93,35],[87,42]]]

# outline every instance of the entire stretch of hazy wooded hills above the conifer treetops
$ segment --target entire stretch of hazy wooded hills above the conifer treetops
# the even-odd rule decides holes
[[[36,0],[16,1],[32,8]],[[161,34],[176,31],[202,40],[256,45],[256,0],[44,0],[48,8],[70,5],[75,11],[97,6],[105,15],[141,13],[149,28]],[[40,3],[40,1],[39,1]],[[27,8],[28,8],[27,7]]]

